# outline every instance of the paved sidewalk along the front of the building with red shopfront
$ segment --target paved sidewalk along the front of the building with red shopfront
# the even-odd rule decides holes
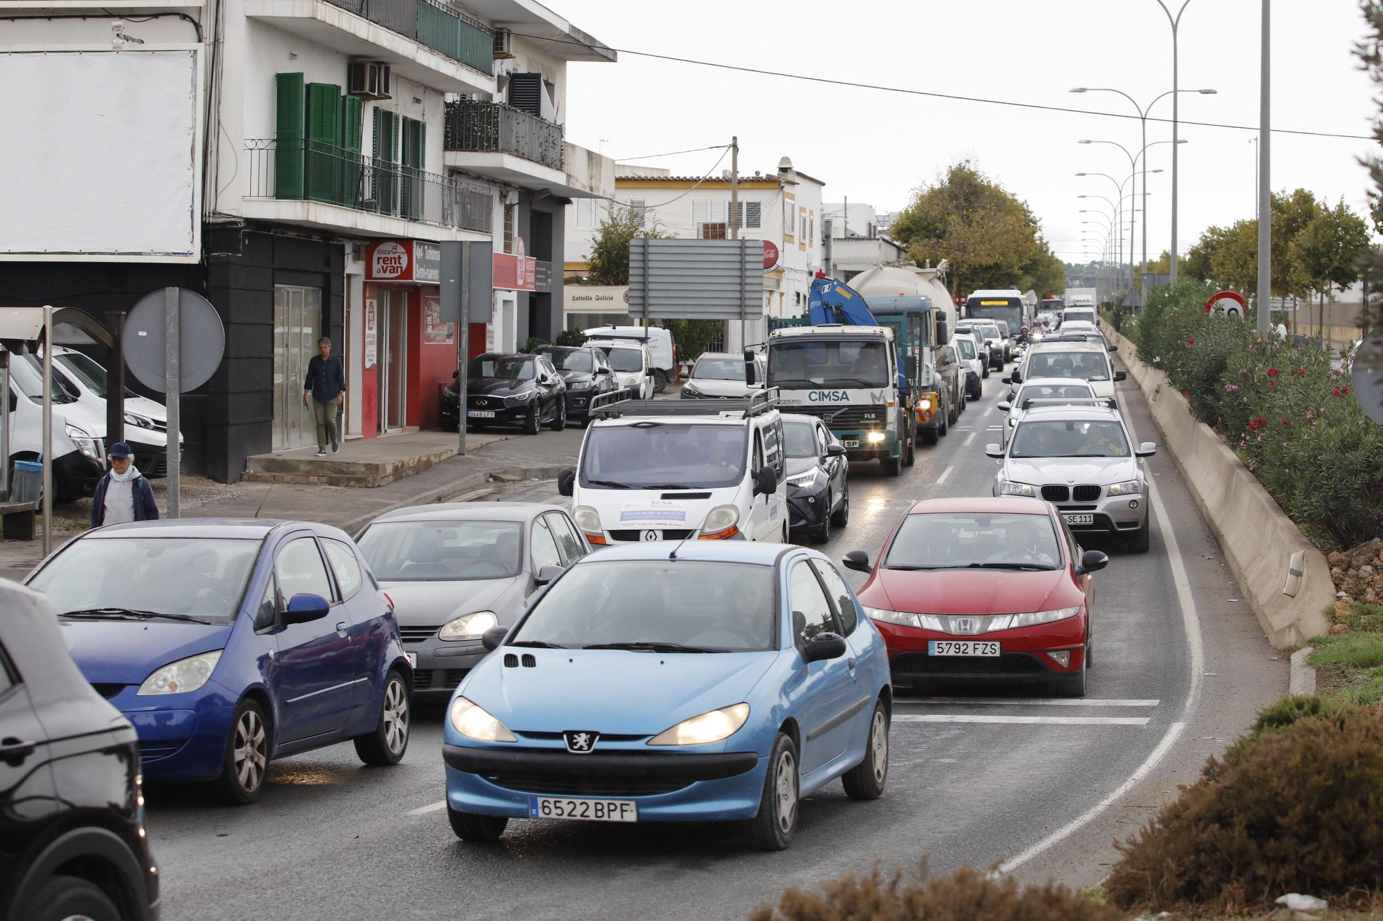
[[[184,476],[183,517],[289,519],[321,521],[354,535],[371,519],[408,505],[441,502],[484,487],[491,477],[539,480],[575,466],[581,429],[496,438],[472,454],[436,463],[416,476],[373,490],[284,483],[217,484]],[[455,436],[451,436],[455,437]],[[386,441],[378,438],[376,441]],[[159,510],[166,512],[165,480],[152,480]],[[55,514],[53,546],[84,528],[90,499],[64,503]],[[41,527],[41,524],[40,524]],[[43,541],[0,541],[0,577],[21,579],[43,557]]]

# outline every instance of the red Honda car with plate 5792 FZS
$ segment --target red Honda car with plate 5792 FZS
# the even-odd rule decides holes
[[[884,635],[895,685],[1044,683],[1084,697],[1091,573],[1057,509],[1015,496],[914,502],[873,568],[860,603]]]

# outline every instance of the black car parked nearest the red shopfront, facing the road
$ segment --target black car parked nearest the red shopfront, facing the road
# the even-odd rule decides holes
[[[456,375],[452,373],[452,378]],[[444,429],[459,425],[456,382],[441,400]],[[538,434],[544,425],[553,431],[567,427],[567,383],[545,355],[487,351],[466,365],[466,426],[519,426]]]

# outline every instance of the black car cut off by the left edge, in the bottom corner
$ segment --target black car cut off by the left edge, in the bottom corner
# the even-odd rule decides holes
[[[43,595],[0,579],[0,918],[158,918],[134,727]]]

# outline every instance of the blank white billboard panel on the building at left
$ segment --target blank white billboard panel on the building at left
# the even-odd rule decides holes
[[[196,261],[196,48],[0,53],[0,260]]]

